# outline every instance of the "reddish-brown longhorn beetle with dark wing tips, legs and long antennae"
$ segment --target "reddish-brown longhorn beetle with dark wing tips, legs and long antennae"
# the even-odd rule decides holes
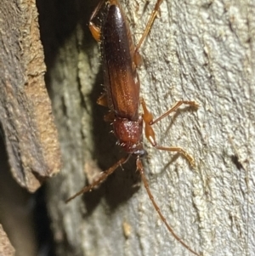
[[[156,209],[156,212],[160,215],[161,220],[178,242],[191,253],[199,255],[175,234],[172,227],[168,225],[167,220],[161,214],[161,210],[150,192],[148,181],[144,175],[144,166],[141,161],[141,158],[147,154],[142,142],[144,125],[145,136],[156,149],[178,152],[190,162],[191,166],[195,165],[193,157],[182,148],[177,146],[165,147],[157,145],[156,136],[152,128],[153,124],[160,122],[162,118],[176,111],[180,105],[190,105],[197,108],[198,105],[195,101],[178,101],[170,110],[154,120],[145,105],[144,99],[139,96],[140,85],[137,67],[141,63],[141,57],[138,50],[144,42],[144,38],[147,37],[150,32],[150,28],[156,18],[162,1],[163,0],[157,0],[156,6],[150,14],[150,19],[145,27],[144,34],[140,38],[136,48],[133,46],[127,20],[117,0],[101,0],[90,17],[89,29],[95,40],[100,43],[104,68],[105,94],[99,97],[98,104],[109,107],[110,112],[105,116],[105,121],[112,122],[113,132],[118,139],[118,144],[127,152],[127,156],[122,157],[111,168],[100,174],[99,179],[93,184],[82,188],[81,191],[71,196],[66,202],[70,202],[82,193],[94,189],[112,174],[116,168],[127,162],[130,156],[134,156],[136,157],[136,168],[139,170],[150,201]],[[105,6],[103,6],[104,3]],[[99,27],[93,23],[93,20],[103,8],[105,11],[104,18]],[[139,105],[142,105],[143,114],[139,113]]]

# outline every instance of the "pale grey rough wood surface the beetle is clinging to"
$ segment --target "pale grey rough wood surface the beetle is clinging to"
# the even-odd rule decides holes
[[[122,0],[136,42],[155,1]],[[63,172],[48,184],[58,255],[190,255],[161,223],[133,161],[98,190],[65,199],[119,158],[107,112],[99,50],[88,31],[94,1],[38,3],[48,87],[59,128]],[[254,1],[166,0],[140,53],[141,95],[155,117],[195,100],[155,125],[146,141],[150,190],[184,242],[203,255],[252,255],[254,241]],[[122,154],[122,153],[121,153]]]

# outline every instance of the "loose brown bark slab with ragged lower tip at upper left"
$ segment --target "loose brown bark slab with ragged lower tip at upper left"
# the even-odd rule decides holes
[[[37,15],[35,1],[1,1],[0,122],[12,174],[28,191],[60,168]]]

